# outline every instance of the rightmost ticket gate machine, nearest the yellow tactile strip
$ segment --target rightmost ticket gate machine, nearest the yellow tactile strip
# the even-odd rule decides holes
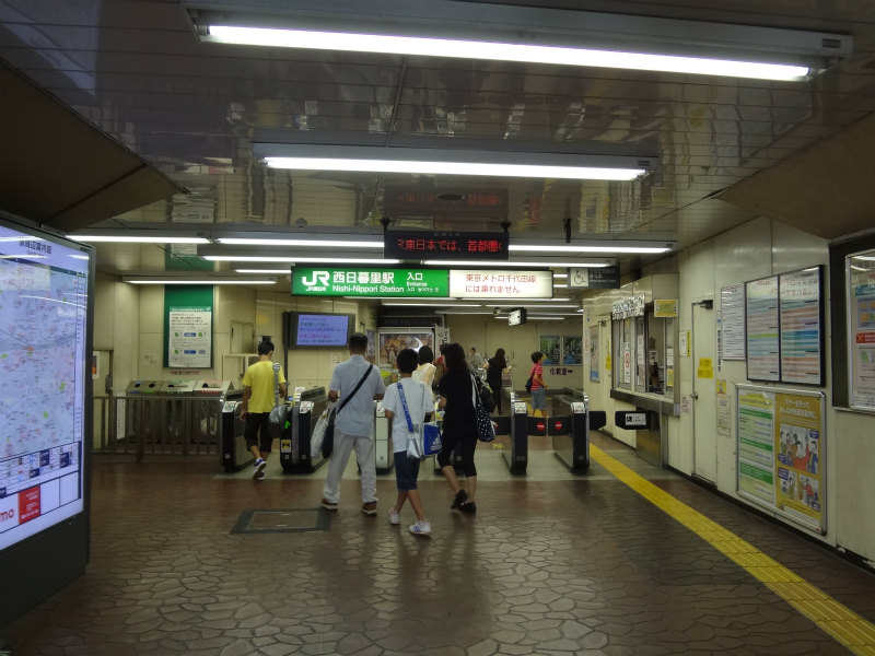
[[[558,413],[548,420],[553,453],[574,473],[590,469],[590,431],[605,425],[604,411],[590,411],[590,399],[584,395],[555,398],[553,409]]]

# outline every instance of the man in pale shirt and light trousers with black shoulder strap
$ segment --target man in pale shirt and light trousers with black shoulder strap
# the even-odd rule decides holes
[[[376,452],[374,400],[383,398],[386,386],[380,371],[364,359],[368,338],[353,332],[347,344],[349,360],[335,367],[328,386],[328,399],[340,400],[335,419],[335,447],[328,462],[328,477],[323,489],[322,507],[336,511],[340,500],[340,479],[349,455],[355,449],[362,481],[362,513],[376,515]]]

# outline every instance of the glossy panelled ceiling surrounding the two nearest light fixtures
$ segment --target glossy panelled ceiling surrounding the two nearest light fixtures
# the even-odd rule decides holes
[[[501,15],[501,3],[487,4]],[[521,238],[560,238],[570,219],[573,238],[672,239],[687,247],[758,212],[794,223],[794,212],[762,202],[772,176],[789,189],[815,188],[792,164],[802,153],[819,147],[840,155],[849,126],[863,130],[859,143],[875,130],[864,120],[875,110],[871,0],[505,4],[847,33],[855,52],[809,81],[777,83],[222,46],[200,43],[175,0],[3,0],[0,58],[178,185],[166,198],[133,209],[108,201],[89,208],[94,223],[118,231],[147,223],[199,226],[207,234],[253,226],[296,233],[365,227],[380,234],[380,220],[389,214],[396,225],[500,230],[508,222]],[[600,151],[655,155],[660,165],[634,183],[271,171],[253,154],[253,142],[265,138]],[[827,145],[831,140],[839,145]],[[43,188],[51,184],[39,162],[15,156],[11,165]],[[738,207],[712,198],[758,179],[765,186],[756,192],[748,187],[749,194],[721,197]],[[829,194],[851,195],[852,187],[832,180]],[[189,194],[180,194],[183,188]],[[508,202],[490,218],[453,203],[436,203],[431,213],[387,212],[387,190],[398,188],[499,189]],[[810,230],[808,220],[797,225]],[[173,261],[156,246],[145,253],[97,250],[98,266],[107,271]],[[642,260],[621,261],[628,268]]]

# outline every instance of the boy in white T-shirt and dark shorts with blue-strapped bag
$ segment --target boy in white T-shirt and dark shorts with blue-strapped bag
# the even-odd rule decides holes
[[[413,380],[410,375],[419,365],[419,356],[413,349],[402,349],[396,358],[396,365],[400,374],[400,380],[386,388],[386,396],[383,398],[383,410],[386,419],[392,421],[392,443],[395,452],[395,480],[398,485],[398,499],[395,506],[389,511],[389,523],[400,524],[400,512],[407,500],[417,514],[417,522],[410,525],[410,532],[415,536],[428,536],[431,534],[431,523],[425,519],[422,511],[422,500],[417,490],[417,478],[419,477],[419,460],[407,457],[407,436],[410,434],[407,425],[401,397],[398,387],[404,388],[407,409],[410,413],[410,421],[415,426],[421,425],[428,420],[428,415],[434,411],[434,400],[431,390],[424,383]]]

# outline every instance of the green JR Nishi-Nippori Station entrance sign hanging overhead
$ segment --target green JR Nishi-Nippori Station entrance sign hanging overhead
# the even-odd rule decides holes
[[[450,295],[446,269],[334,269],[295,267],[292,295],[300,296],[418,296]]]

